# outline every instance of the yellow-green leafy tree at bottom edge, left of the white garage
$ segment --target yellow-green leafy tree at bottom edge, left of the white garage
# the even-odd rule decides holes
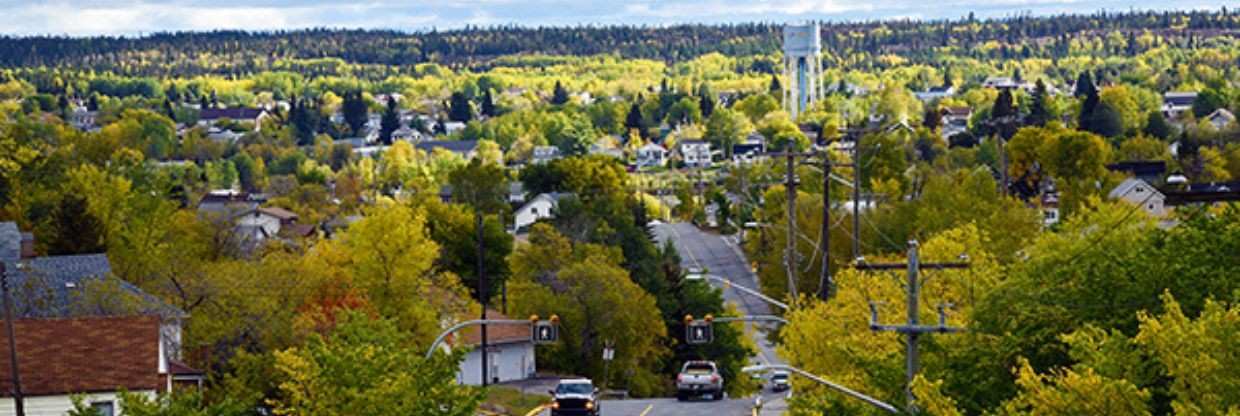
[[[424,346],[391,320],[347,314],[331,333],[275,353],[275,414],[474,415],[482,394],[456,382],[463,355],[425,359]]]

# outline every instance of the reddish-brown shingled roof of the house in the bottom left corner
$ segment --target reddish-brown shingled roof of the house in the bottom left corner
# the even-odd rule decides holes
[[[17,319],[14,333],[22,392],[47,396],[160,387],[156,317]],[[9,356],[9,343],[0,343]],[[0,369],[0,396],[10,397],[12,370]]]

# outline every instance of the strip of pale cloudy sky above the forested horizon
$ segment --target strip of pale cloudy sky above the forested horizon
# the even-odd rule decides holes
[[[0,34],[124,35],[306,27],[670,25],[957,19],[1240,7],[1221,0],[0,0]]]

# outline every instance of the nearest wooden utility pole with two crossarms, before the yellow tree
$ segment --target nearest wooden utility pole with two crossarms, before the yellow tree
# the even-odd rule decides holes
[[[944,312],[944,304],[939,305],[939,324],[937,325],[923,325],[919,314],[919,298],[921,297],[921,281],[918,273],[923,268],[934,269],[947,269],[947,268],[967,268],[967,263],[921,263],[918,257],[918,242],[916,240],[909,241],[909,262],[908,263],[879,263],[879,265],[866,265],[858,263],[858,269],[870,269],[870,271],[889,271],[908,268],[908,323],[904,325],[884,325],[878,323],[878,308],[872,302],[869,304],[870,319],[869,329],[875,332],[897,332],[905,335],[904,341],[904,376],[905,386],[904,394],[905,400],[908,400],[906,406],[910,414],[916,412],[916,397],[913,396],[913,378],[916,376],[921,366],[921,356],[918,350],[918,340],[921,334],[932,333],[956,333],[963,329],[947,327],[947,315]]]

